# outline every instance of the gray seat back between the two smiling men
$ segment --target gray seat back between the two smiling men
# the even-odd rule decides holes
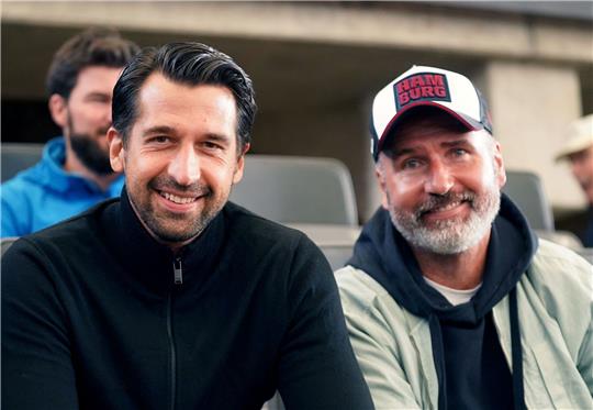
[[[333,158],[247,155],[231,200],[280,223],[358,224],[350,173]]]

